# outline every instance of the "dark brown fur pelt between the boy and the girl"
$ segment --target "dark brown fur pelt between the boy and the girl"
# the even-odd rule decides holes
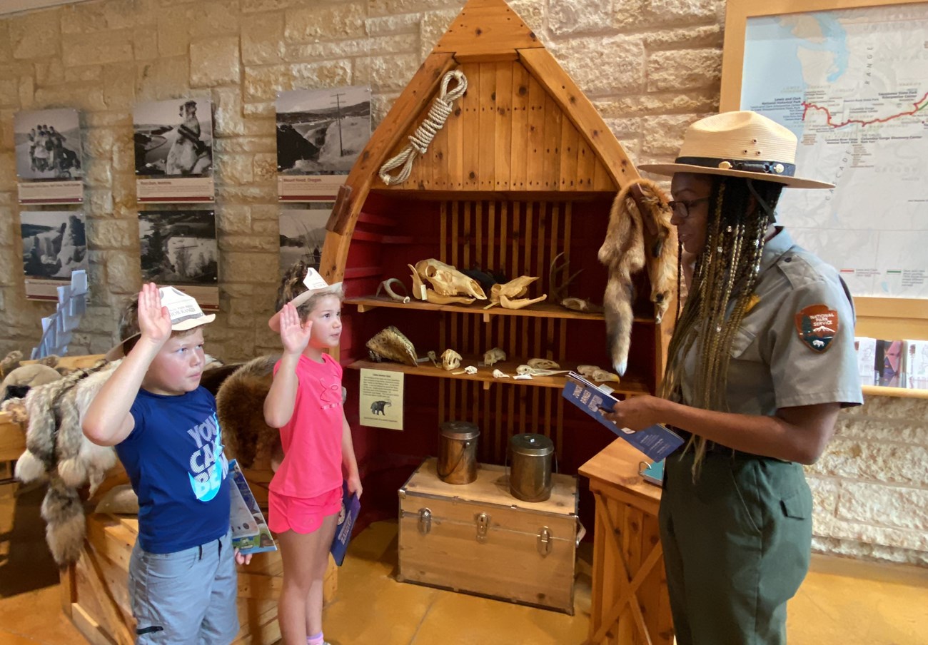
[[[280,432],[264,422],[264,397],[274,380],[279,355],[259,356],[223,381],[216,394],[219,425],[226,454],[250,468],[255,458],[270,458],[280,451]]]

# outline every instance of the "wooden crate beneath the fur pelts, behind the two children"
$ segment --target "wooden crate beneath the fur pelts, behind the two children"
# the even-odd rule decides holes
[[[124,474],[122,475],[124,481]],[[122,483],[115,482],[115,483]],[[108,481],[104,487],[114,482]],[[80,559],[61,572],[61,608],[91,643],[130,645],[135,620],[129,605],[129,559],[138,535],[135,516],[97,515],[88,505],[87,538]],[[236,645],[274,643],[280,639],[277,598],[283,563],[279,551],[256,553],[238,566],[238,636]],[[329,559],[324,602],[335,597],[337,567]]]

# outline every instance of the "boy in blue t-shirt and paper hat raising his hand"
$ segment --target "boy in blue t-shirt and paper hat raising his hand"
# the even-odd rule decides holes
[[[129,563],[136,642],[229,643],[238,633],[229,533],[228,461],[213,394],[200,387],[202,326],[213,322],[174,287],[145,285],[120,323],[122,358],[84,417],[84,435],[114,445],[138,495]]]

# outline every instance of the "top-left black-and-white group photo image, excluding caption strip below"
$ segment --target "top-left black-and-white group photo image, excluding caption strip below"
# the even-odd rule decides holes
[[[17,112],[13,118],[16,174],[27,181],[63,181],[84,176],[77,110]]]

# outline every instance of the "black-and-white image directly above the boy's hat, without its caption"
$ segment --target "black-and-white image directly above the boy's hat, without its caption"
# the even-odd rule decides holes
[[[216,225],[213,211],[138,213],[142,279],[176,285],[215,285]]]

